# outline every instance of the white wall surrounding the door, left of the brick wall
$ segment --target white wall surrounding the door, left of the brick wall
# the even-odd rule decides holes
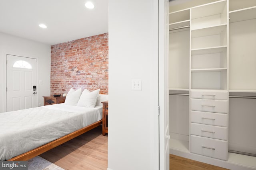
[[[0,112],[6,111],[6,55],[18,55],[35,58],[38,61],[38,103],[43,103],[42,96],[50,95],[51,48],[28,39],[0,33]]]

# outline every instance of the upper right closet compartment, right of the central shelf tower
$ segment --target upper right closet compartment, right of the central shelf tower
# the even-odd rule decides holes
[[[230,91],[256,90],[256,0],[229,0]],[[242,68],[238,69],[237,68]]]

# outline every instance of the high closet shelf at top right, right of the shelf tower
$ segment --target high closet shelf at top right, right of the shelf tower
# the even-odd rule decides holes
[[[244,20],[251,20],[256,18],[256,6],[234,10],[229,12],[229,22],[238,22]]]

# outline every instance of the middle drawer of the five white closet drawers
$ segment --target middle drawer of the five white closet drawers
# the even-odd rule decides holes
[[[228,127],[228,114],[191,110],[190,122]]]

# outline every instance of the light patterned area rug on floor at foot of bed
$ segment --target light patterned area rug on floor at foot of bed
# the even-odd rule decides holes
[[[36,156],[28,160],[28,170],[64,170],[59,166],[45,160],[40,156]]]

